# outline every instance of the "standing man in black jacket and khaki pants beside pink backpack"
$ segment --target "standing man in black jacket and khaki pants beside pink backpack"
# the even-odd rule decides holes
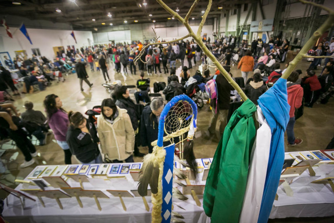
[[[229,72],[229,66],[224,66],[224,69]],[[210,136],[216,135],[216,124],[217,119],[219,118],[220,121],[220,127],[219,132],[220,136],[218,138],[221,138],[223,135],[224,129],[227,125],[227,115],[228,115],[228,109],[230,106],[230,94],[231,90],[233,90],[232,85],[228,83],[226,78],[221,74],[219,70],[216,71],[217,77],[216,77],[216,84],[217,84],[217,91],[218,91],[218,105],[216,105],[216,100],[211,100],[211,107],[213,116],[211,118],[210,126],[209,126],[209,134]],[[216,113],[216,106],[217,107],[217,113]]]

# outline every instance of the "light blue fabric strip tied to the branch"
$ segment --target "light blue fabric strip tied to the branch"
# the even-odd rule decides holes
[[[279,78],[274,86],[257,100],[272,132],[258,223],[268,222],[284,163],[284,132],[290,119],[290,105],[287,99],[286,80]]]

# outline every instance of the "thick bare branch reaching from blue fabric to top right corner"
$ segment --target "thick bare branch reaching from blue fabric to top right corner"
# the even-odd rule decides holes
[[[330,8],[324,7],[323,5],[316,4],[311,1],[300,0],[303,4],[311,4],[316,7],[320,7],[329,12],[329,16],[326,21],[313,33],[310,39],[307,40],[301,51],[297,54],[297,56],[289,63],[289,66],[286,68],[286,71],[282,75],[283,79],[287,79],[291,72],[296,68],[297,64],[305,57],[307,51],[312,48],[314,43],[319,39],[319,37],[324,33],[326,30],[329,30],[331,27],[334,26],[334,11]]]

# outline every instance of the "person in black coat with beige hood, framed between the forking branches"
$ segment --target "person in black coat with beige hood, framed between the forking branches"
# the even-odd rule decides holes
[[[257,105],[257,99],[265,93],[267,87],[263,84],[261,74],[254,73],[253,80],[246,85],[245,87],[245,94],[250,100]]]

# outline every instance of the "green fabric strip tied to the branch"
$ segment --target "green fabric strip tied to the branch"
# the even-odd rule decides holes
[[[238,223],[247,184],[256,129],[250,99],[232,115],[218,144],[203,196],[205,214],[212,223]]]

